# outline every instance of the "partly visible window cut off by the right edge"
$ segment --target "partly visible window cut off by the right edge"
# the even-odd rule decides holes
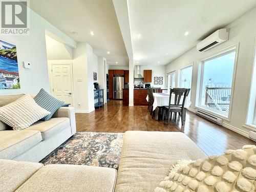
[[[255,44],[256,44],[256,38],[255,38]],[[254,67],[252,70],[251,90],[250,90],[246,124],[256,128],[256,46],[254,51],[253,66]]]

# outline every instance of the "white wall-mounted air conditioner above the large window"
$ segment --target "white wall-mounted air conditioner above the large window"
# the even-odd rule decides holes
[[[228,40],[229,29],[219,29],[197,44],[197,50],[207,51]]]

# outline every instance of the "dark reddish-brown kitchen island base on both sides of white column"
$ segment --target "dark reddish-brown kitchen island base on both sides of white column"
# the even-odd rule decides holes
[[[146,100],[147,90],[145,88],[139,89],[135,88],[133,92],[133,102],[134,105],[147,105]],[[129,88],[123,89],[123,105],[129,105]]]

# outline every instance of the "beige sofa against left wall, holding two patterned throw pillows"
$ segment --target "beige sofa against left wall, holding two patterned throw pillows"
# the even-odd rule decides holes
[[[20,95],[1,95],[0,106]],[[38,121],[14,131],[0,121],[0,159],[39,162],[76,133],[74,108],[60,108],[49,121]]]

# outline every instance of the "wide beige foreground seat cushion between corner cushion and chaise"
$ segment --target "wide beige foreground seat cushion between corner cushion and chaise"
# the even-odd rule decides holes
[[[16,192],[111,192],[115,189],[116,175],[113,168],[52,164],[38,170]]]

